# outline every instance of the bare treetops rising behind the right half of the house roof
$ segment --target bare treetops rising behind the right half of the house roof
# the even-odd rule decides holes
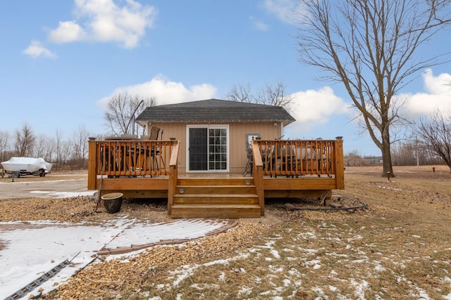
[[[259,103],[265,105],[274,105],[283,107],[285,110],[291,110],[293,102],[292,96],[285,95],[286,86],[278,81],[274,85],[266,84],[264,89],[261,89],[255,95],[249,84],[233,85],[228,91],[226,97],[228,100],[245,103]]]

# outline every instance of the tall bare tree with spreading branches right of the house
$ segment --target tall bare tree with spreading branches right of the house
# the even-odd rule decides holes
[[[306,9],[299,14],[299,60],[345,85],[381,149],[383,176],[393,174],[390,133],[403,120],[395,95],[412,75],[445,61],[414,54],[450,25],[450,0],[299,1]]]

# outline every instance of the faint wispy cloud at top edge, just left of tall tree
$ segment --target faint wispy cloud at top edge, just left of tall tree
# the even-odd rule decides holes
[[[280,21],[294,24],[298,14],[302,15],[303,5],[297,0],[265,0],[264,8],[276,15]]]

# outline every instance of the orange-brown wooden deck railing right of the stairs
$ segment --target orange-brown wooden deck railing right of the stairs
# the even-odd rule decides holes
[[[254,143],[259,147],[263,175],[327,175],[332,178],[338,170],[342,173],[342,140],[259,140]]]

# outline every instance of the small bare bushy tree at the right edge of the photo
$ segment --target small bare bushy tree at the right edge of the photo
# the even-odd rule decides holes
[[[435,110],[430,118],[421,118],[415,133],[423,148],[441,157],[451,172],[451,113]]]

